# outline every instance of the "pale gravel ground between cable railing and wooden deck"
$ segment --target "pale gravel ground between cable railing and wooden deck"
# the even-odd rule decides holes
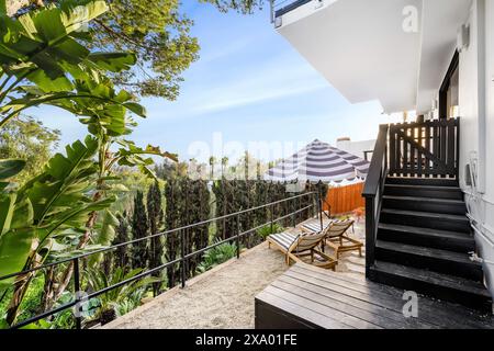
[[[356,224],[363,239],[363,223]],[[262,244],[114,320],[117,329],[254,328],[254,298],[288,270],[283,254]],[[362,276],[364,260],[356,252],[343,254],[337,271]]]

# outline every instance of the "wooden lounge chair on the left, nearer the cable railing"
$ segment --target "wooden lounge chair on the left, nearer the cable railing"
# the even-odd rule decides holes
[[[285,254],[287,264],[289,265],[292,260],[294,262],[304,262],[302,258],[310,257],[311,264],[324,269],[335,270],[338,261],[317,249],[317,247],[321,246],[325,239],[325,233],[280,233],[270,235],[268,237],[268,244],[269,248],[271,248],[272,245]]]

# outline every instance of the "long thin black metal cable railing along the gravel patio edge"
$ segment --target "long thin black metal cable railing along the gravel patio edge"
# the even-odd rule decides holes
[[[307,206],[304,206],[302,208],[299,208],[296,211],[293,211],[293,212],[291,212],[291,213],[289,213],[289,214],[287,214],[284,216],[281,216],[281,217],[278,217],[278,218],[273,217],[274,206],[276,205],[279,205],[279,204],[282,204],[282,203],[285,203],[285,202],[292,202],[294,204],[295,200],[301,200],[302,197],[305,197],[305,196],[312,196],[312,200],[313,200],[312,204],[310,204]],[[314,196],[317,196],[317,199],[315,200]],[[300,204],[300,201],[299,201],[299,204]],[[147,236],[145,238],[130,240],[130,241],[122,242],[122,244],[119,244],[119,245],[114,245],[114,246],[111,246],[111,247],[108,247],[108,248],[102,248],[102,249],[94,250],[94,251],[91,251],[91,252],[87,252],[87,253],[83,253],[83,254],[78,254],[78,256],[75,256],[75,257],[67,258],[67,259],[58,260],[56,262],[52,262],[52,263],[43,264],[43,265],[40,265],[40,267],[31,268],[31,269],[24,270],[22,272],[16,272],[16,273],[11,273],[11,274],[8,274],[8,275],[0,276],[0,281],[3,281],[3,280],[7,280],[7,279],[11,279],[11,278],[23,276],[25,274],[33,273],[33,272],[41,271],[41,270],[45,270],[45,269],[48,269],[48,268],[54,268],[54,267],[57,267],[57,265],[60,265],[60,264],[64,264],[64,263],[72,263],[74,264],[74,290],[75,290],[76,298],[74,301],[71,301],[69,303],[66,303],[66,304],[63,304],[63,305],[60,305],[60,306],[58,306],[56,308],[53,308],[50,310],[44,312],[44,313],[38,314],[38,315],[34,316],[34,317],[25,319],[25,320],[16,324],[14,326],[11,326],[11,328],[12,329],[19,329],[19,328],[29,326],[29,325],[31,325],[33,322],[36,322],[36,321],[38,321],[41,319],[44,319],[44,318],[50,317],[50,316],[53,316],[55,314],[58,314],[60,312],[64,312],[66,309],[80,306],[82,303],[85,303],[85,302],[87,302],[87,301],[89,301],[91,298],[98,297],[98,296],[100,296],[100,295],[102,295],[104,293],[108,293],[108,292],[110,292],[112,290],[121,287],[121,286],[123,286],[125,284],[130,284],[130,283],[132,283],[134,281],[141,280],[141,279],[143,279],[145,276],[148,276],[148,275],[151,275],[151,274],[154,274],[156,272],[162,271],[162,270],[167,269],[168,267],[175,265],[177,263],[180,263],[181,286],[186,287],[186,282],[187,282],[186,263],[191,258],[193,258],[193,257],[195,257],[198,254],[201,254],[201,253],[203,253],[203,252],[205,252],[207,250],[211,250],[211,249],[213,249],[213,248],[215,248],[217,246],[221,246],[223,244],[231,242],[231,241],[235,240],[236,248],[237,248],[237,252],[236,253],[237,253],[237,259],[238,259],[240,257],[240,245],[239,245],[240,244],[240,238],[243,238],[245,236],[248,236],[248,235],[252,235],[258,229],[260,229],[260,228],[262,228],[265,226],[268,226],[268,225],[271,225],[271,231],[272,231],[273,225],[276,223],[281,222],[283,219],[287,219],[287,218],[290,218],[290,217],[292,217],[293,225],[295,226],[295,216],[297,214],[306,212],[306,211],[308,211],[311,208],[314,208],[314,206],[317,206],[318,213],[321,214],[321,211],[322,211],[321,194],[319,194],[319,192],[307,192],[307,193],[295,195],[295,196],[292,196],[292,197],[279,200],[279,201],[266,204],[266,205],[251,207],[251,208],[248,208],[248,210],[239,211],[239,212],[236,212],[236,213],[233,213],[233,214],[229,214],[229,215],[224,215],[224,216],[211,218],[211,219],[207,219],[207,220],[202,220],[202,222],[199,222],[199,223],[195,223],[195,224],[182,226],[180,228],[170,229],[170,230],[166,230],[166,231],[162,231],[162,233],[159,233],[159,234],[156,234],[156,235]],[[295,207],[295,204],[293,205],[293,207]],[[267,223],[265,223],[262,225],[258,225],[258,226],[256,226],[254,228],[250,228],[248,230],[245,230],[245,231],[240,231],[239,230],[239,228],[240,228],[240,226],[239,226],[240,215],[248,214],[248,213],[251,213],[251,212],[255,212],[255,211],[259,211],[259,210],[266,210],[266,208],[270,208],[271,218],[270,218],[269,222],[267,222]],[[193,252],[190,252],[190,253],[186,253],[186,250],[184,250],[184,235],[186,235],[188,229],[191,229],[191,228],[194,228],[194,227],[204,226],[204,225],[209,225],[209,224],[214,223],[216,220],[227,219],[227,218],[232,218],[232,217],[236,217],[236,223],[237,223],[237,228],[238,228],[236,235],[232,236],[231,238],[217,241],[217,242],[215,242],[213,245],[210,245],[210,246],[207,246],[205,248],[202,248],[200,250],[197,250],[197,251],[193,251]],[[81,294],[80,294],[80,288],[81,288],[81,286],[80,286],[80,283],[81,283],[80,260],[86,259],[88,257],[91,257],[93,254],[100,254],[100,253],[104,254],[104,253],[108,253],[110,251],[114,251],[117,248],[121,248],[121,247],[124,247],[124,246],[130,246],[130,245],[137,244],[137,242],[144,241],[144,240],[149,240],[149,239],[153,239],[153,238],[156,238],[156,237],[166,236],[166,235],[169,235],[169,234],[172,234],[172,233],[179,233],[180,234],[181,254],[180,254],[180,257],[178,259],[169,261],[169,262],[166,262],[166,263],[164,263],[164,264],[161,264],[159,267],[149,269],[149,270],[147,270],[145,272],[142,272],[142,273],[135,275],[135,276],[132,276],[132,278],[125,280],[125,281],[119,282],[119,283],[116,283],[114,285],[104,287],[104,288],[96,291],[96,292],[91,292],[90,294],[85,295],[83,297],[81,297]],[[75,318],[76,318],[76,328],[77,329],[81,329],[82,328],[82,317],[80,317],[79,314],[76,314]]]

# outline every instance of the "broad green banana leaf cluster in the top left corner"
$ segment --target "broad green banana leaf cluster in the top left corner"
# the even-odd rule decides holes
[[[105,11],[102,0],[65,0],[19,19],[0,14],[0,64],[5,72],[27,79],[45,92],[72,90],[74,79],[92,79],[94,70],[130,69],[135,55],[91,54],[79,42],[83,37],[90,41],[90,35],[81,34]]]

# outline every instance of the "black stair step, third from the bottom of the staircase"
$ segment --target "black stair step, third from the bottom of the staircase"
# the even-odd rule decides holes
[[[471,252],[475,250],[475,239],[465,233],[401,226],[396,224],[379,224],[378,239],[408,245],[422,245],[456,252]]]

